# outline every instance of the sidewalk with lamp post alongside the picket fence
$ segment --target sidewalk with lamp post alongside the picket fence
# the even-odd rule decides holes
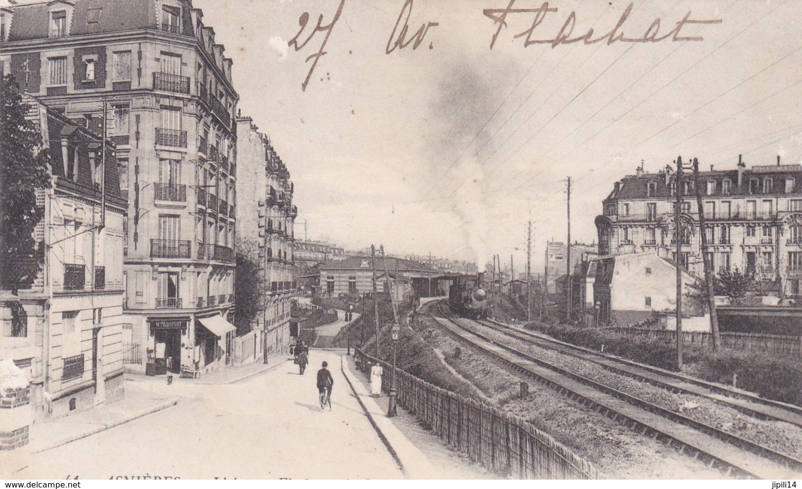
[[[353,357],[342,357],[342,373],[354,389],[379,438],[403,467],[407,479],[498,479],[498,476],[471,463],[446,442],[424,430],[417,419],[400,405],[397,407],[397,416],[387,418],[387,394],[371,397],[370,382],[357,370]]]

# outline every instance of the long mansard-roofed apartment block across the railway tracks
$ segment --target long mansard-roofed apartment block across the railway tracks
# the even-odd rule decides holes
[[[786,300],[802,297],[802,166],[757,165],[747,169],[739,157],[736,169],[701,172],[708,253],[716,273],[752,271],[764,290]],[[674,200],[683,196],[679,255],[674,249]],[[658,251],[676,259],[692,275],[703,275],[699,209],[695,183],[666,167],[642,169],[614,184],[596,218],[602,255]]]

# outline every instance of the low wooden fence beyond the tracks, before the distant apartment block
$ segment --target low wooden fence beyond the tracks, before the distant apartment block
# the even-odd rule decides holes
[[[674,343],[677,332],[661,329],[605,328],[630,338]],[[767,335],[751,332],[721,332],[721,346],[747,352],[802,353],[802,336]],[[707,347],[713,344],[711,332],[683,331],[683,344]]]

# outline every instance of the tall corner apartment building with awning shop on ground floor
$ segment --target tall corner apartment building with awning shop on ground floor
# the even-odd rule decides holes
[[[237,92],[189,0],[55,0],[2,10],[27,92],[114,141],[124,221],[127,368],[216,369],[233,314]],[[146,365],[148,368],[146,369]]]

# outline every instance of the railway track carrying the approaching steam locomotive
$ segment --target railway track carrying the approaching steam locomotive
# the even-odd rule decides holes
[[[443,317],[435,316],[432,309],[439,310]],[[429,312],[432,319],[453,336],[480,352],[495,357],[505,365],[640,434],[674,446],[680,453],[692,458],[699,458],[711,467],[719,468],[726,475],[777,479],[796,477],[802,472],[802,461],[796,458],[666,410],[521,352],[508,344],[492,340],[453,320],[439,304],[431,306]]]

